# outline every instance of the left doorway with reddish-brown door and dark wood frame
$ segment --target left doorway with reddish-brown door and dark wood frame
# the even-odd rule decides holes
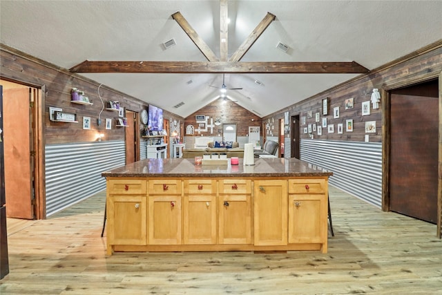
[[[3,142],[6,213],[22,219],[45,218],[42,165],[41,90],[0,80],[3,86]],[[19,118],[19,120],[17,120]]]

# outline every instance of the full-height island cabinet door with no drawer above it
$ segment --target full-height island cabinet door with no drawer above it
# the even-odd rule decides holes
[[[254,245],[287,245],[287,181],[256,180],[253,193]]]

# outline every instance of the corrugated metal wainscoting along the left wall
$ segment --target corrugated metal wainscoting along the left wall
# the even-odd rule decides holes
[[[50,144],[46,156],[46,216],[106,189],[102,172],[123,166],[124,141]]]

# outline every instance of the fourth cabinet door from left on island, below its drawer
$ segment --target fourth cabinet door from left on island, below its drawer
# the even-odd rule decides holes
[[[219,197],[220,244],[251,244],[251,196]]]

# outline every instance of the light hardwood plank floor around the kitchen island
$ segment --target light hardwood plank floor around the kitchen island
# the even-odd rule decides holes
[[[10,274],[0,294],[442,294],[436,225],[333,187],[328,254],[106,256],[105,198],[98,193],[48,220],[9,218]]]

